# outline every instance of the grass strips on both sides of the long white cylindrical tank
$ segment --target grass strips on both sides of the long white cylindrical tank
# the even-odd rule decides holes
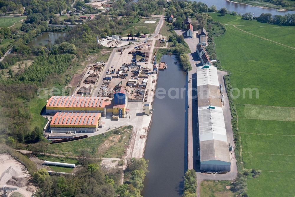
[[[65,158],[65,157],[52,157],[52,156],[45,156],[45,155],[37,155],[38,159],[46,160],[49,162],[61,162],[61,163],[68,163],[68,164],[76,164],[78,165],[79,162],[77,159]],[[73,168],[66,168],[66,167],[59,167],[59,166],[49,166],[55,172],[68,172],[71,173]]]

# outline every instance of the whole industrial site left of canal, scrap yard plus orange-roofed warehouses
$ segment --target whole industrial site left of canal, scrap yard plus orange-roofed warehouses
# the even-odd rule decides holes
[[[151,54],[163,24],[163,18],[160,18],[155,33],[148,39],[125,48],[114,48],[107,62],[88,64],[71,97],[52,97],[47,102],[44,117],[49,118],[47,125],[55,125],[59,132],[56,133],[48,126],[44,128],[45,134],[50,135],[50,139],[75,138],[85,135],[85,132],[91,137],[120,126],[132,125],[134,129],[124,158],[143,157],[147,130],[152,119],[149,109],[153,108],[159,67],[159,64],[154,64]],[[124,101],[120,95],[125,95]],[[144,105],[148,106],[146,111]],[[101,113],[98,123],[87,121],[86,118],[83,120],[94,113]],[[53,117],[57,116],[62,118],[53,122]],[[93,129],[86,128],[84,123]],[[63,125],[67,128],[63,128]],[[65,130],[67,132],[63,133]]]

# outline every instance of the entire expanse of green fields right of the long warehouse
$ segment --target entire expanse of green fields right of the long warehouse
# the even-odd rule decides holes
[[[227,32],[214,41],[235,88],[243,168],[262,172],[248,178],[247,194],[294,196],[295,28],[210,15],[227,24]]]

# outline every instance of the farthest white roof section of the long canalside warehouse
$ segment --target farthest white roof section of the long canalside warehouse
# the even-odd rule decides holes
[[[217,68],[215,66],[197,67],[197,86],[215,85],[219,87]]]

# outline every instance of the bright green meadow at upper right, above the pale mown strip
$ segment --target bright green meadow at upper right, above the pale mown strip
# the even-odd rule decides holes
[[[218,17],[217,15],[211,14],[214,20],[220,19],[228,24],[270,25],[241,20],[238,16]],[[271,26],[278,27],[278,25]],[[291,88],[293,80],[290,76],[295,74],[291,61],[295,58],[295,49],[249,35],[232,25],[226,25],[226,28],[227,32],[223,36],[215,38],[215,44],[217,56],[223,68],[232,72],[232,86],[238,88],[241,94],[238,99],[235,99],[236,103],[294,107],[295,103],[290,99],[295,97],[295,92]],[[252,28],[261,27],[253,26]],[[279,29],[278,34],[289,34],[289,31],[290,29]],[[293,40],[291,35],[290,42]],[[263,37],[261,34],[260,36]],[[256,99],[255,91],[253,91],[252,99],[250,99],[247,90],[244,91],[243,98],[243,88],[258,88],[259,98]],[[233,91],[233,95],[237,96],[237,91]]]

